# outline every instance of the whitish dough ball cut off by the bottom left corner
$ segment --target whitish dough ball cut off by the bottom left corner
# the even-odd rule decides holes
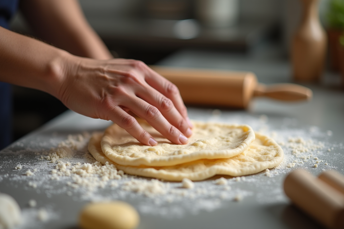
[[[20,207],[15,199],[0,193],[0,228],[13,228],[21,223]]]

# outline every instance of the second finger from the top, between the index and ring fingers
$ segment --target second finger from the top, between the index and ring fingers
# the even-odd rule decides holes
[[[175,108],[170,99],[166,98],[149,85],[147,85],[147,88],[145,90],[141,90],[137,95],[144,101],[158,108],[167,121],[178,128],[186,137],[190,137],[192,135],[189,124]]]

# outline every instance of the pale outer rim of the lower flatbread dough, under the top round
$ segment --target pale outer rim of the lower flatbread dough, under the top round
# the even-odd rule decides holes
[[[281,163],[284,158],[282,148],[275,142],[275,140],[256,133],[256,137],[261,139],[265,145],[273,146],[276,150],[275,156],[264,162],[256,162],[248,165],[243,168],[228,168],[221,165],[214,165],[210,168],[207,168],[202,171],[192,172],[192,173],[183,173],[183,172],[169,172],[164,169],[152,168],[152,167],[134,167],[134,166],[123,166],[119,165],[110,159],[108,159],[103,151],[101,151],[100,140],[102,138],[102,133],[96,133],[92,136],[89,141],[88,150],[93,155],[93,157],[102,164],[114,164],[115,167],[119,170],[123,170],[127,174],[146,176],[150,178],[157,178],[165,181],[182,181],[183,178],[188,178],[192,181],[201,181],[207,178],[211,178],[214,175],[229,175],[229,176],[244,176],[251,175],[258,172],[261,172],[265,169],[271,169],[276,167]],[[205,159],[206,160],[206,159]],[[219,159],[221,160],[221,159]],[[166,167],[165,167],[166,168]],[[168,168],[168,167],[167,167]]]

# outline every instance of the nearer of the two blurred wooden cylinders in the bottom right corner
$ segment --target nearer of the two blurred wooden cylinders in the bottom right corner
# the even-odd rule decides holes
[[[284,192],[296,206],[324,226],[344,228],[344,195],[309,172],[291,172],[284,181]]]

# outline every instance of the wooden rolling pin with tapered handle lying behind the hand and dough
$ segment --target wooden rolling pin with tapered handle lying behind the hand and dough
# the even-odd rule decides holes
[[[174,83],[187,104],[246,108],[254,97],[283,101],[310,100],[312,91],[297,84],[264,85],[252,72],[150,66]]]

